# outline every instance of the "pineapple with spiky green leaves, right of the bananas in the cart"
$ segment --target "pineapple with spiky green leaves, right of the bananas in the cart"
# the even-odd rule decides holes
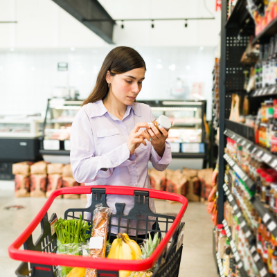
[[[153,240],[150,235],[149,238],[143,242],[143,245],[141,246],[141,259],[149,258],[152,255],[156,247],[161,242],[161,239],[158,238],[158,235],[159,233],[156,233]],[[150,277],[153,275],[154,267],[145,271],[132,271],[129,277]]]

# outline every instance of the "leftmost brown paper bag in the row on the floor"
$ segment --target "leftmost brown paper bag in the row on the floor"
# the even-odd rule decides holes
[[[33,163],[24,161],[12,165],[12,174],[15,175],[15,197],[30,196],[30,166]]]

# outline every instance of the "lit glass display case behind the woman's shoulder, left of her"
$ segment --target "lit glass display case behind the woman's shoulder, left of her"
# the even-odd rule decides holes
[[[69,163],[70,131],[82,100],[48,99],[41,154],[45,161]]]

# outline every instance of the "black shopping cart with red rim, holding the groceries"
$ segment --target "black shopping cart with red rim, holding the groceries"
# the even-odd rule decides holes
[[[53,203],[55,197],[59,195],[90,193],[92,195],[91,206],[88,208],[69,208],[65,211],[64,218],[79,218],[80,215],[84,218],[84,213],[93,213],[97,204],[107,206],[106,195],[133,195],[134,207],[129,211],[129,214],[123,214],[125,204],[116,203],[116,214],[112,214],[111,217],[125,219],[126,222],[129,222],[129,220],[136,220],[136,222],[144,220],[146,221],[145,233],[154,231],[155,233],[161,232],[164,235],[163,240],[161,240],[150,258],[145,260],[107,260],[106,258],[93,259],[84,256],[69,256],[55,253],[57,250],[57,236],[55,233],[53,235],[51,233],[51,225],[47,215],[48,208]],[[172,200],[180,202],[182,206],[176,217],[153,213],[149,208],[150,198]],[[56,277],[57,265],[96,268],[98,277],[118,277],[119,270],[142,271],[152,268],[156,263],[157,266],[152,275],[153,277],[177,277],[184,238],[184,223],[181,223],[181,219],[187,206],[188,200],[184,196],[147,188],[120,186],[60,188],[51,194],[51,197],[48,198],[35,219],[21,233],[19,238],[10,245],[8,253],[10,258],[23,261],[15,272],[17,276],[21,277]],[[141,219],[141,215],[144,215],[143,218],[145,219]],[[161,230],[157,230],[157,228],[155,230],[148,229],[147,222],[151,221],[149,217],[154,217],[154,222],[160,223]],[[89,222],[92,224],[92,220]],[[41,224],[42,233],[37,242],[34,243],[32,233],[39,223]],[[109,224],[109,231],[112,226],[114,225]],[[139,224],[136,224],[137,230],[139,230],[138,226]],[[129,224],[119,227],[125,228],[127,231],[133,229],[129,227]],[[19,249],[22,245],[24,245],[24,249]]]

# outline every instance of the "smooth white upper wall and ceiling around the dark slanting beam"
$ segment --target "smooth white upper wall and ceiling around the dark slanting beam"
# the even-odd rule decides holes
[[[114,26],[114,42],[126,46],[216,46],[220,33],[220,12],[215,12],[215,0],[100,0],[114,19],[211,17],[215,20],[120,22]],[[0,48],[69,48],[109,47],[79,21],[51,0],[0,0]]]

